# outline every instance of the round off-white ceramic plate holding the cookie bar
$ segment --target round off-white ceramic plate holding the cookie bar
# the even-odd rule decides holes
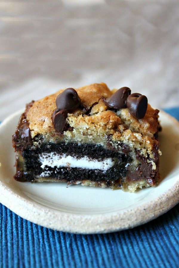
[[[13,179],[11,138],[22,111],[0,125],[0,202],[31,222],[71,233],[107,233],[155,219],[179,202],[179,122],[160,112],[162,157],[157,187],[135,193],[65,183],[21,183]]]

